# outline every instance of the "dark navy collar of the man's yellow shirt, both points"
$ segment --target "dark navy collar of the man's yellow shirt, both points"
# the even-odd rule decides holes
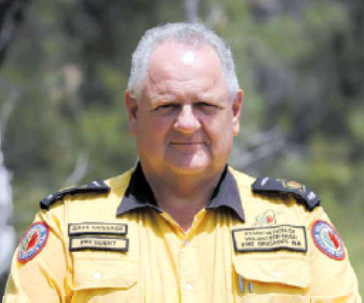
[[[116,211],[116,215],[120,216],[134,209],[145,207],[153,208],[157,212],[163,212],[157,204],[148,181],[145,179],[140,163],[138,163],[130,178],[125,195]],[[231,209],[241,221],[245,221],[239,189],[227,166],[214,190],[211,202],[205,208],[217,209],[220,207]]]

